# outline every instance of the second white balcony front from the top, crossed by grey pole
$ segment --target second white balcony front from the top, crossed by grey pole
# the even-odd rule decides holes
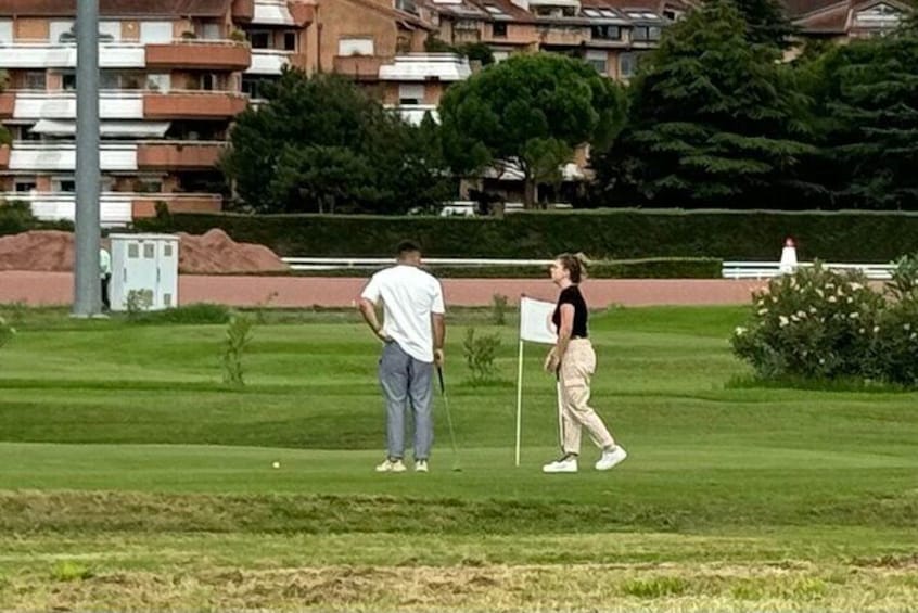
[[[75,119],[75,92],[16,91],[0,94],[0,116],[2,116],[2,97],[12,95],[13,119]],[[140,92],[103,90],[99,93],[99,117],[101,119],[142,119],[143,99]]]

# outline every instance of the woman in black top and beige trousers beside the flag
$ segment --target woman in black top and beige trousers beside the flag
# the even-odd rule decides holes
[[[596,353],[589,342],[589,312],[579,288],[585,271],[586,265],[579,254],[562,254],[551,265],[551,280],[561,288],[561,295],[552,316],[552,322],[558,329],[558,344],[545,358],[545,370],[558,376],[564,455],[560,460],[543,467],[547,473],[577,472],[582,427],[586,427],[592,442],[602,449],[595,464],[596,470],[608,471],[628,456],[615,444],[602,419],[589,406],[589,384],[596,371]]]

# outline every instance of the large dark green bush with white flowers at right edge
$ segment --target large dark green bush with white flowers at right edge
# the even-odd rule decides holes
[[[818,263],[774,279],[731,343],[763,379],[918,384],[918,260],[903,258],[883,292]]]

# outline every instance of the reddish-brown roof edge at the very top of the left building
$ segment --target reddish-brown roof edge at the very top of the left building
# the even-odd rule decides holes
[[[219,17],[230,10],[232,0],[99,0],[99,12],[111,16],[153,17],[191,15]],[[75,16],[76,0],[5,0],[0,14],[25,16]]]

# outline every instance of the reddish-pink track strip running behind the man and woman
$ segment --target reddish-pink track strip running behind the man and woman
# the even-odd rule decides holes
[[[366,279],[319,277],[214,277],[183,274],[179,278],[181,304],[200,302],[232,306],[346,307],[359,296]],[[728,279],[590,279],[583,290],[591,307],[613,304],[725,305],[747,304],[750,292],[765,281]],[[495,294],[513,298],[526,294],[554,301],[557,289],[547,279],[444,279],[448,304],[489,305]],[[0,271],[0,304],[68,305],[73,299],[71,272]]]

